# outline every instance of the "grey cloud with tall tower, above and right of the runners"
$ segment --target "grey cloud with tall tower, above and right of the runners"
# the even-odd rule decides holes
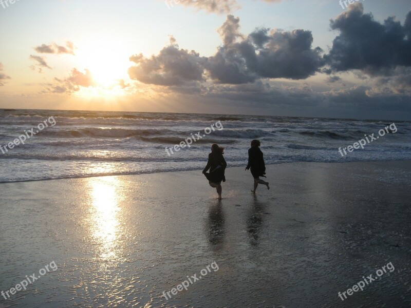
[[[239,33],[239,19],[227,16],[218,29],[223,45],[209,58],[207,70],[217,83],[241,84],[258,79],[306,79],[323,66],[322,50],[312,49],[310,31],[257,29]]]

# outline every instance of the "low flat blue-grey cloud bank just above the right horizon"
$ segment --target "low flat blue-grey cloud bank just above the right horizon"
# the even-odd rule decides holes
[[[407,94],[373,93],[372,86],[319,91],[308,83],[284,85],[264,83],[212,85],[202,98],[224,103],[231,108],[259,114],[281,114],[305,117],[352,119],[410,119],[410,98]],[[181,98],[180,98],[181,99]]]

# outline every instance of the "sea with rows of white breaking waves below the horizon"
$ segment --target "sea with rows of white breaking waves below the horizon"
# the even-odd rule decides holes
[[[363,149],[339,152],[372,133]],[[22,134],[25,144],[10,148]],[[406,121],[0,109],[0,183],[201,170],[213,143],[228,167],[246,166],[253,139],[266,164],[411,159]]]

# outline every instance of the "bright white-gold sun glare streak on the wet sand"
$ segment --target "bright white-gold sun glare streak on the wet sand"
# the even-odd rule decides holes
[[[90,234],[100,244],[100,258],[118,258],[118,236],[121,232],[119,215],[119,180],[116,177],[89,178]]]

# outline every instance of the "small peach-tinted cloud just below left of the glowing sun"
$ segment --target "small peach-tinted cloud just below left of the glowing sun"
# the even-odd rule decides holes
[[[91,87],[95,85],[95,81],[92,78],[91,72],[88,69],[84,70],[85,73],[73,68],[70,75],[61,80],[54,78],[54,83],[47,84],[47,88],[43,90],[43,93],[73,93],[80,91],[80,87]]]

